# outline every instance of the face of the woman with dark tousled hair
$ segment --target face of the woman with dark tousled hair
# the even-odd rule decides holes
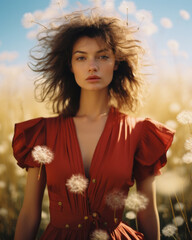
[[[85,36],[75,42],[71,70],[82,89],[107,89],[116,68],[115,55],[102,38]]]

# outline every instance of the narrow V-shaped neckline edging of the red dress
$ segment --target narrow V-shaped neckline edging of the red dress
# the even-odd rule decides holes
[[[83,161],[83,155],[82,155],[82,152],[81,152],[81,148],[80,148],[80,144],[79,144],[79,140],[78,140],[78,137],[77,137],[77,129],[76,129],[76,125],[75,125],[75,121],[73,119],[73,117],[71,117],[71,122],[72,122],[72,126],[73,126],[73,132],[74,132],[74,137],[75,137],[75,141],[76,141],[76,145],[78,147],[78,154],[80,156],[80,161],[81,161],[81,167],[82,167],[82,170],[83,170],[83,175],[87,178],[91,178],[90,176],[90,173],[91,173],[91,169],[92,169],[92,165],[94,163],[94,159],[95,159],[95,156],[97,154],[97,149],[100,145],[100,142],[102,141],[104,135],[105,135],[105,132],[106,132],[106,129],[107,129],[107,126],[108,126],[108,122],[110,120],[110,115],[111,115],[111,112],[112,112],[112,108],[113,107],[110,107],[109,109],[109,112],[108,112],[108,116],[107,116],[107,119],[105,121],[105,125],[104,125],[104,128],[101,132],[101,135],[99,137],[99,140],[97,141],[97,144],[95,146],[95,149],[93,151],[93,156],[92,156],[92,159],[91,159],[91,162],[90,162],[90,166],[89,166],[89,169],[88,169],[88,176],[86,175],[86,170],[85,170],[85,166],[84,166],[84,161]]]

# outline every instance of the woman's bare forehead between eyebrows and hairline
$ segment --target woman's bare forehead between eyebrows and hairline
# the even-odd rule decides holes
[[[87,37],[83,36],[77,39],[77,41],[73,45],[73,52],[75,51],[86,51],[86,50],[101,50],[101,49],[107,49],[110,48],[107,46],[105,41],[101,37]]]

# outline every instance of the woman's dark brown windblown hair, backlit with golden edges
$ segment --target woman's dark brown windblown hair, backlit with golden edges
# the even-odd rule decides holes
[[[35,81],[37,99],[51,102],[54,113],[75,116],[81,89],[71,72],[73,46],[83,36],[101,37],[114,52],[118,64],[108,86],[110,102],[120,110],[134,112],[144,82],[139,73],[143,49],[127,23],[94,10],[73,12],[57,23],[38,35],[37,49],[31,52],[30,68],[39,73]]]

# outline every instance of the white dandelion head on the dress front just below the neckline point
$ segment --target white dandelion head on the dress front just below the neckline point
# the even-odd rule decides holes
[[[88,179],[81,174],[73,174],[71,178],[67,179],[66,186],[72,193],[83,194],[88,186]]]

